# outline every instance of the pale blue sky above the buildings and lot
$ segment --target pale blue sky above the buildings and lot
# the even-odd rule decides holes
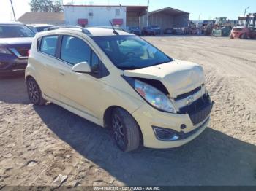
[[[72,0],[63,0],[64,4]],[[146,5],[148,0],[73,0],[74,4],[124,4],[124,5]],[[29,0],[12,0],[16,17],[29,11]],[[255,0],[150,0],[149,10],[173,7],[190,12],[190,20],[213,19],[214,17],[228,17],[234,20],[238,15],[244,14],[244,9],[250,7],[248,12],[256,12]],[[0,20],[13,18],[10,0],[0,0]]]

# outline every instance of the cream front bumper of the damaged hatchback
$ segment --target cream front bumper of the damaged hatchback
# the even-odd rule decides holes
[[[199,122],[196,125],[195,121],[193,123],[192,114],[161,112],[154,109],[149,104],[141,106],[132,113],[132,116],[135,117],[138,125],[140,125],[145,147],[167,149],[180,147],[199,136],[210,122],[210,113],[213,104],[213,102],[210,102],[210,105],[206,105],[193,113],[196,114],[196,117],[194,117],[197,118],[196,120]],[[154,128],[175,132],[179,139],[173,141],[159,139]]]

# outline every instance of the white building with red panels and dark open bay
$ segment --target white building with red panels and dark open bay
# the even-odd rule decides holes
[[[140,17],[146,15],[147,6],[111,5],[64,5],[64,18],[67,25],[110,26],[126,28],[140,26]]]

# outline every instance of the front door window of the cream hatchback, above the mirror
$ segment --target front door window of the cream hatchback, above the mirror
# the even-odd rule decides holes
[[[61,60],[72,65],[81,62],[90,63],[91,48],[82,39],[78,39],[74,36],[63,36]]]

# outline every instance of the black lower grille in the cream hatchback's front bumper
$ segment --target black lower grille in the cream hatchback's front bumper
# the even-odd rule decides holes
[[[203,122],[211,113],[211,109],[214,106],[208,95],[203,95],[202,98],[193,102],[189,106],[184,106],[178,113],[189,114],[190,120],[194,125]]]

